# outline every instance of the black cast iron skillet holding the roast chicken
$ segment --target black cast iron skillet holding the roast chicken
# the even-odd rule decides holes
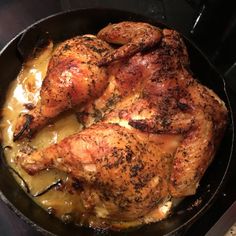
[[[62,41],[75,35],[96,33],[108,23],[124,20],[144,21],[163,27],[163,24],[130,12],[111,9],[83,9],[50,16],[27,28],[16,36],[0,54],[0,105],[2,106],[4,103],[9,83],[16,78],[24,58],[31,52],[35,44],[45,37],[45,34],[48,34],[54,41]],[[225,101],[231,116],[232,112],[222,77],[193,43],[186,38],[185,42],[194,75],[202,84],[212,88]],[[197,194],[185,198],[166,220],[130,230],[125,233],[126,235],[179,235],[210,207],[222,188],[230,165],[234,131],[231,118],[217,155],[201,180]],[[91,236],[104,233],[103,231],[98,232],[93,229],[65,225],[50,216],[18,186],[2,161],[0,163],[0,196],[20,218],[34,225],[43,234]],[[195,204],[197,202],[198,204]],[[119,232],[106,232],[105,234],[124,235]]]

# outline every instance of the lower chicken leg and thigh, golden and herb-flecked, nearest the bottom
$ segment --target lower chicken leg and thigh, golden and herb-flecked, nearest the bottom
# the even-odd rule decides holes
[[[47,167],[70,173],[80,183],[88,212],[105,208],[106,218],[127,221],[147,214],[168,196],[172,153],[165,151],[158,136],[98,123],[32,154],[22,166],[30,174]]]

